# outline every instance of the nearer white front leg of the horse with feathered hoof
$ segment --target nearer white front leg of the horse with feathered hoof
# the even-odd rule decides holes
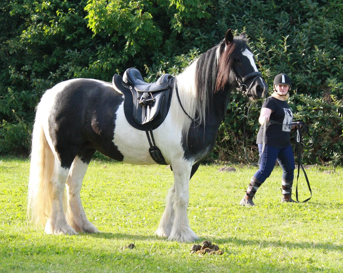
[[[172,203],[174,219],[168,239],[178,242],[193,242],[198,239],[189,227],[187,216],[191,169],[192,166],[184,160],[180,160],[176,164],[173,163],[175,194]]]

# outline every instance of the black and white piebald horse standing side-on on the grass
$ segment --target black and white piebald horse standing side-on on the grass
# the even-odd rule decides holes
[[[175,76],[169,111],[153,130],[174,176],[155,235],[178,242],[198,239],[187,215],[189,181],[214,148],[235,88],[250,100],[268,90],[245,33],[234,37],[229,29],[219,44]],[[43,94],[32,133],[27,215],[42,223],[45,233],[99,232],[80,199],[82,180],[96,151],[124,163],[156,164],[145,132],[128,123],[123,101],[112,83],[96,79],[66,80]]]

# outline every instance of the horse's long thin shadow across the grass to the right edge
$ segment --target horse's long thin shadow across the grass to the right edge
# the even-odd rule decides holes
[[[167,238],[158,237],[155,235],[131,235],[131,234],[123,234],[123,233],[110,233],[110,232],[100,232],[100,233],[80,233],[81,236],[87,235],[94,238],[103,238],[103,239],[125,239],[125,240],[131,240],[131,241],[167,241],[170,243],[173,243],[173,241],[168,241]],[[290,249],[323,249],[323,250],[342,250],[343,251],[343,245],[335,245],[335,244],[326,244],[326,243],[309,243],[309,242],[301,242],[301,243],[292,243],[292,242],[283,242],[281,240],[278,241],[266,241],[266,240],[244,240],[244,239],[238,239],[235,237],[228,237],[228,238],[208,238],[208,237],[199,237],[199,239],[195,242],[185,243],[185,244],[200,244],[204,240],[211,240],[213,244],[216,244],[220,246],[221,248],[229,248],[227,245],[230,246],[236,245],[236,246],[253,246],[258,248],[264,248],[264,247],[270,247],[276,246],[276,247],[287,247]]]

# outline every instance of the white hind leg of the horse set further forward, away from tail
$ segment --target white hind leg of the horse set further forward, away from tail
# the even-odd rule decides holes
[[[82,156],[76,156],[67,178],[67,221],[77,232],[95,233],[97,228],[87,220],[80,198],[83,177],[87,171],[94,149],[88,149]]]

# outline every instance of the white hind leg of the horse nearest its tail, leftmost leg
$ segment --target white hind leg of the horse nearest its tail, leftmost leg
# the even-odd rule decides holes
[[[51,211],[45,224],[47,234],[78,234],[68,223],[63,212],[63,192],[68,177],[69,168],[61,167],[58,156],[55,156],[55,166],[50,180]],[[47,194],[48,195],[48,194]],[[44,198],[44,197],[43,197]],[[48,200],[50,202],[50,200]]]

